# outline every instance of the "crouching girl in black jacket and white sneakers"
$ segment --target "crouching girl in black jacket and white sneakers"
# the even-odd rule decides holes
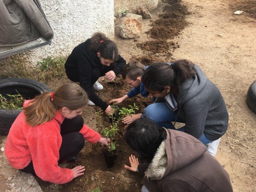
[[[65,63],[66,74],[73,82],[79,82],[89,97],[89,105],[96,104],[107,114],[112,108],[93,91],[102,90],[98,78],[114,80],[124,68],[126,61],[118,54],[115,42],[103,33],[95,33],[92,38],[76,46]]]

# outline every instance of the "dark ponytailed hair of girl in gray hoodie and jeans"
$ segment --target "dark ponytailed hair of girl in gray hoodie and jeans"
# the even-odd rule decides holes
[[[196,74],[194,63],[188,60],[176,60],[172,65],[164,62],[151,64],[142,76],[146,88],[162,91],[166,86],[180,91],[182,83]]]

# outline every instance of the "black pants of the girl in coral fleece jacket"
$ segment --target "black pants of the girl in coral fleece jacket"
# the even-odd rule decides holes
[[[84,120],[79,115],[72,119],[65,118],[60,126],[60,134],[62,136],[62,144],[60,146],[60,162],[68,161],[76,156],[82,148],[84,148],[84,136],[79,132],[84,126]],[[36,176],[33,162],[20,171],[31,173]]]

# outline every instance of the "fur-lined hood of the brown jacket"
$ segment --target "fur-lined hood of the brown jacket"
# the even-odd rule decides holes
[[[166,140],[160,144],[145,172],[148,180],[160,180],[192,163],[206,152],[206,146],[193,136],[167,129],[166,133]]]

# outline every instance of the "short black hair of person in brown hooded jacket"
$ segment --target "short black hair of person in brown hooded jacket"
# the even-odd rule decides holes
[[[156,150],[166,137],[166,130],[148,119],[133,121],[124,133],[124,140],[130,148],[148,163],[152,161]]]

